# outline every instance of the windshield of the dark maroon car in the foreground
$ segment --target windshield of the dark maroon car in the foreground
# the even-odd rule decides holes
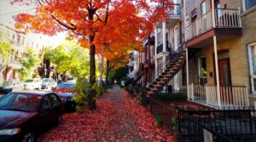
[[[0,109],[15,111],[37,111],[42,96],[37,94],[9,93],[0,98]]]

